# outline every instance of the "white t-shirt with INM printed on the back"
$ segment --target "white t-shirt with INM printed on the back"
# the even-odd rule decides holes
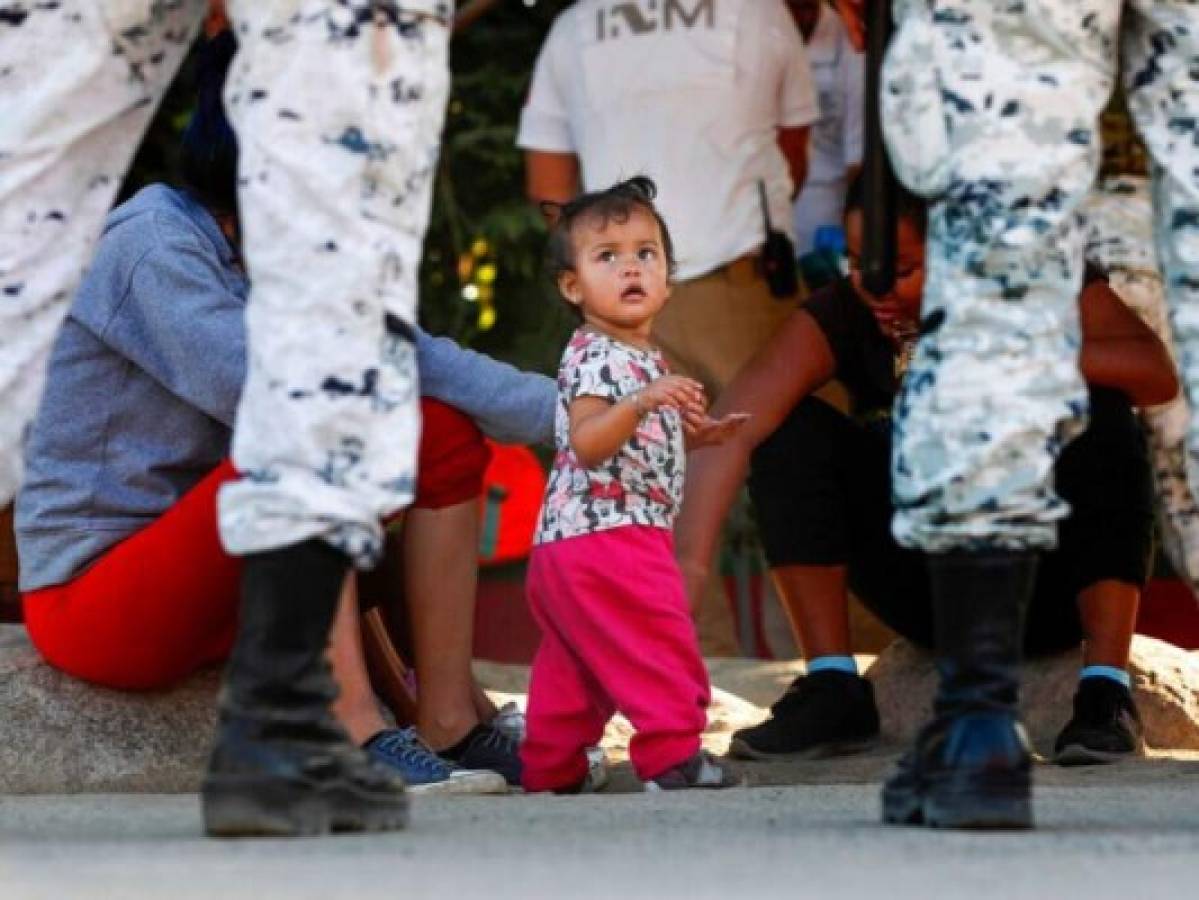
[[[652,177],[686,280],[761,246],[759,180],[791,230],[777,128],[818,115],[783,0],[579,0],[541,49],[517,144],[577,155],[588,191]]]

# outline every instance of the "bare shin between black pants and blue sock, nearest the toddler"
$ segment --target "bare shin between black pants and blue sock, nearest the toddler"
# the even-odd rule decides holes
[[[781,566],[771,574],[803,658],[851,656],[845,567]]]

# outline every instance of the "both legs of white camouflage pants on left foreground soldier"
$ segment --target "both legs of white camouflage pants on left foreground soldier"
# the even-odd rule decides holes
[[[49,343],[204,0],[17,2],[0,19],[0,500]],[[410,324],[452,0],[230,0],[253,280],[221,496],[234,552],[319,537],[369,564],[415,481]],[[16,99],[10,103],[10,98]],[[14,109],[13,114],[10,114]]]

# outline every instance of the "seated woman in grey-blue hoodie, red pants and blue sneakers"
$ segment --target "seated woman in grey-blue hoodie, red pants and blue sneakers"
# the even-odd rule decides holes
[[[187,189],[147,187],[109,216],[53,350],[17,501],[30,638],[52,665],[112,688],[168,685],[222,659],[234,635],[239,560],[222,550],[216,518],[246,367],[236,141],[221,104],[231,54],[225,36],[201,58],[182,146]],[[470,671],[475,545],[456,557],[446,548],[474,533],[488,461],[480,428],[546,440],[554,385],[420,331],[416,352],[424,430],[409,544],[426,586],[429,567],[440,570],[439,590],[409,603],[417,725],[439,755],[380,717],[353,580],[331,639],[336,712],[414,786],[505,790],[520,780],[516,742],[489,721],[494,707]]]

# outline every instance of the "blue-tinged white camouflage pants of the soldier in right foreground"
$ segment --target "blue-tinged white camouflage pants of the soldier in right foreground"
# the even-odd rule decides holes
[[[922,337],[896,405],[894,532],[908,546],[1049,548],[1068,513],[1050,473],[1086,413],[1078,207],[1121,38],[1192,403],[1199,391],[1199,6],[1129,0],[1122,23],[1121,6],[894,0],[887,144],[904,183],[933,200]]]

